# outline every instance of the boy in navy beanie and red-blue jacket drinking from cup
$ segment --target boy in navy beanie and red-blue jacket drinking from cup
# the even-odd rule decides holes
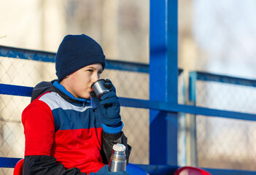
[[[84,34],[67,35],[55,58],[58,80],[36,85],[22,114],[23,174],[127,174],[105,166],[114,144],[126,146],[127,160],[131,147],[112,82],[106,79],[109,93],[101,98],[90,89],[105,68],[101,46]]]

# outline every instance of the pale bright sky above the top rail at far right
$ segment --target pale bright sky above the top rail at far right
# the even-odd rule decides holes
[[[193,35],[208,71],[256,79],[255,16],[255,0],[193,1]]]

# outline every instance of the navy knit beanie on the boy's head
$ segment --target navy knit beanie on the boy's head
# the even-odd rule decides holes
[[[105,55],[101,46],[89,36],[67,35],[56,54],[56,75],[61,82],[67,75],[93,63],[101,63],[105,68]]]

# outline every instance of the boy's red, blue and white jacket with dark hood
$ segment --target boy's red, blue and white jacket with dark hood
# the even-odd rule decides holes
[[[54,84],[54,85],[53,85]],[[24,109],[26,138],[24,174],[89,174],[108,163],[112,146],[131,147],[121,126],[104,126],[92,101],[70,96],[57,82],[42,82]],[[60,90],[61,89],[61,90]],[[106,132],[107,131],[107,132]]]

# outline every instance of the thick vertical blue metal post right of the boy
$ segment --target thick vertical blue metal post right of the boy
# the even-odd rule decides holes
[[[177,0],[150,0],[150,100],[177,104]],[[150,110],[150,164],[177,165],[177,113]]]

